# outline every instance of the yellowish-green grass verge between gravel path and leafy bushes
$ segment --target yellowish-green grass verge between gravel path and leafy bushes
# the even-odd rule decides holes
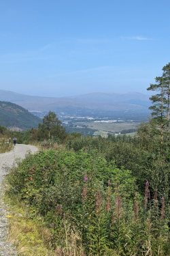
[[[35,222],[30,218],[30,210],[17,199],[5,197],[5,203],[11,210],[11,215],[6,216],[10,223],[9,242],[17,246],[18,255],[54,256],[54,251],[44,244],[44,238],[49,240],[50,232],[42,219]]]

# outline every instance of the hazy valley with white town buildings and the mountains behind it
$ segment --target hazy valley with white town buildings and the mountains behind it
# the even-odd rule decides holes
[[[67,132],[93,136],[135,132],[140,122],[147,121],[150,105],[149,96],[137,92],[50,98],[0,90],[0,100],[14,102],[40,118],[54,111]]]

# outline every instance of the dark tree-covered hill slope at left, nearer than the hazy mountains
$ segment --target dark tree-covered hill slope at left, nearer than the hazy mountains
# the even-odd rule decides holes
[[[16,130],[37,127],[41,119],[11,102],[0,101],[0,125]]]

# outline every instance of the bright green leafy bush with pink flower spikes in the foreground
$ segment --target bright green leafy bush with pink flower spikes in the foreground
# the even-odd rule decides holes
[[[149,185],[145,198],[138,193],[134,199],[132,172],[98,150],[29,154],[8,181],[9,193],[29,205],[30,216],[44,217],[54,248],[67,247],[65,232],[76,229],[86,255],[157,255],[159,248],[168,255],[167,211],[163,215],[161,203],[150,199]]]

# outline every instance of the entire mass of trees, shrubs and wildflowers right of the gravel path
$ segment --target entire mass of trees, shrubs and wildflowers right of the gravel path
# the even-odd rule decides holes
[[[7,196],[41,219],[46,255],[170,255],[169,81],[170,63],[148,87],[152,117],[135,137],[67,134],[51,111],[13,133],[39,152],[12,169]]]

